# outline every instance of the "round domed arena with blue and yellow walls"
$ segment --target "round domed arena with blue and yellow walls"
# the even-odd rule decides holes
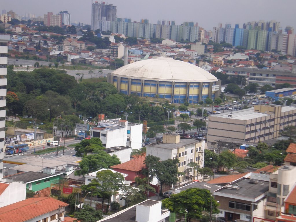
[[[108,74],[109,83],[123,94],[198,103],[220,95],[221,81],[211,73],[171,57],[134,62]]]

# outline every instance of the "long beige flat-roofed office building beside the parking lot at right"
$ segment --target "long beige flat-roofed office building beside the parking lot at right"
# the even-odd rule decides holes
[[[263,142],[278,138],[286,126],[296,126],[296,107],[255,105],[250,109],[210,115],[207,141],[208,144],[230,139]]]

